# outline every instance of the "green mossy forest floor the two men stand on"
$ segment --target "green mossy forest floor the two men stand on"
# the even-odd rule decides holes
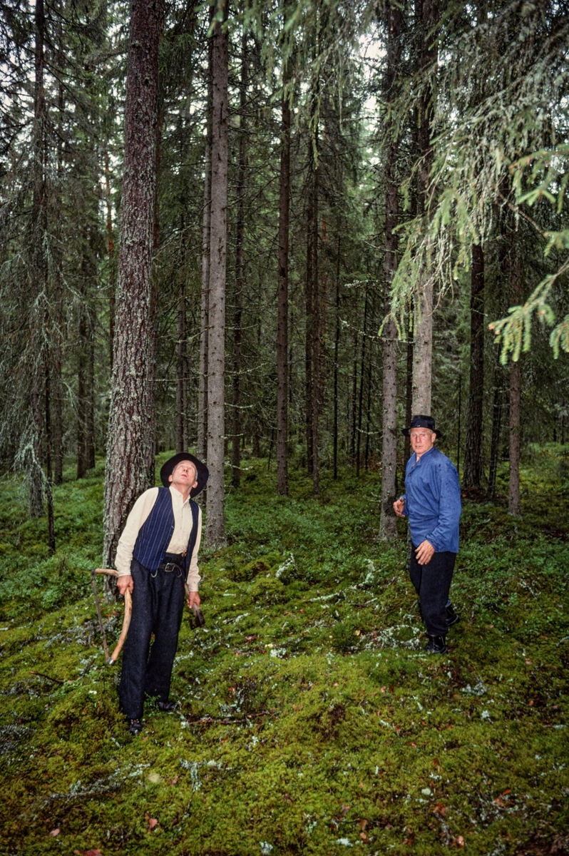
[[[3,480],[0,853],[569,853],[568,453],[530,451],[520,519],[465,502],[443,656],[423,651],[405,521],[377,537],[377,473],[323,473],[318,500],[293,473],[283,499],[245,461],[228,547],[201,556],[206,627],[182,625],[179,706],[148,705],[135,738],[89,574],[103,462],[56,488],[55,556]],[[111,642],[121,614],[104,605]]]

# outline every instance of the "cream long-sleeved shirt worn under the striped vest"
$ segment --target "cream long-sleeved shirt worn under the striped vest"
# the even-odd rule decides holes
[[[184,500],[179,490],[169,487],[172,496],[172,510],[174,512],[174,532],[170,543],[166,548],[167,553],[183,553],[187,548],[187,542],[192,532],[193,517],[192,508],[190,508],[189,497]],[[140,494],[137,501],[134,503],[131,513],[127,517],[127,522],[122,530],[121,538],[116,547],[116,570],[120,577],[130,574],[130,563],[133,561],[133,550],[136,539],[139,537],[141,526],[145,524],[148,515],[154,508],[154,503],[157,501],[158,488],[151,487],[150,490],[145,490]],[[198,551],[199,543],[202,537],[202,509],[199,508],[198,513],[198,533],[196,543],[193,547],[193,554],[190,561],[190,567],[187,571],[187,587],[190,591],[198,591],[199,568],[198,568]]]

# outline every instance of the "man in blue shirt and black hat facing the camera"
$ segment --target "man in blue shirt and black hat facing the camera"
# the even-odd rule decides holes
[[[394,502],[398,517],[408,517],[412,551],[409,576],[418,593],[429,636],[425,651],[447,651],[448,627],[459,620],[448,599],[459,551],[460,484],[453,463],[435,448],[435,419],[413,416],[409,428],[413,455],[407,461],[405,496]]]

